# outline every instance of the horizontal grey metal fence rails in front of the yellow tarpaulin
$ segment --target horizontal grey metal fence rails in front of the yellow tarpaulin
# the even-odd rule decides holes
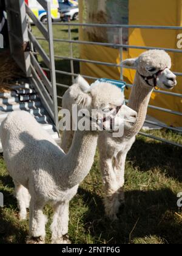
[[[181,49],[170,49],[170,48],[154,48],[154,47],[150,47],[150,46],[136,46],[136,45],[127,45],[127,44],[123,44],[122,40],[120,40],[119,44],[114,44],[114,43],[100,43],[100,42],[94,42],[94,41],[82,41],[82,40],[72,40],[72,30],[71,27],[105,27],[105,28],[115,28],[118,29],[118,33],[122,34],[122,29],[123,28],[127,28],[127,29],[161,29],[161,30],[182,30],[182,27],[175,27],[175,26],[136,26],[136,25],[113,25],[113,24],[87,24],[87,23],[53,23],[53,26],[58,25],[58,26],[68,26],[68,32],[69,32],[69,39],[62,39],[62,38],[53,38],[54,42],[58,42],[58,43],[67,43],[70,47],[70,56],[66,57],[66,56],[61,56],[61,55],[55,55],[55,59],[61,59],[61,60],[69,60],[70,61],[70,71],[62,71],[62,70],[55,70],[56,74],[62,74],[65,76],[70,76],[72,77],[72,82],[74,81],[74,78],[76,76],[78,76],[78,74],[75,73],[74,71],[74,66],[73,66],[73,62],[83,62],[83,63],[92,63],[93,65],[105,65],[105,66],[112,66],[112,67],[116,67],[116,68],[120,68],[121,69],[121,79],[123,78],[123,66],[119,65],[118,63],[108,63],[108,62],[99,62],[99,61],[95,61],[95,60],[88,60],[88,59],[78,59],[75,58],[73,56],[73,44],[88,44],[88,45],[99,45],[99,46],[107,46],[110,48],[116,48],[120,50],[120,57],[121,57],[121,61],[123,59],[123,48],[125,49],[163,49],[164,51],[167,52],[174,52],[174,53],[181,53],[182,54],[182,50]],[[45,40],[45,38],[42,37],[36,37],[37,40]],[[49,71],[49,68],[43,68],[45,71]],[[174,72],[176,76],[182,76],[182,73],[179,72]],[[92,79],[97,80],[101,77],[92,77],[92,76],[86,76],[83,74],[83,77],[85,77],[86,79]],[[109,77],[108,77],[109,78]],[[59,88],[69,88],[69,85],[65,85],[65,84],[59,84],[56,83],[57,87]],[[132,87],[131,84],[127,84],[127,87]],[[182,94],[180,93],[173,93],[171,91],[161,91],[161,90],[154,90],[155,93],[160,93],[160,94],[165,94],[168,96],[172,96],[172,97],[178,97],[178,98],[182,98]],[[62,99],[61,96],[58,96],[58,99]],[[61,105],[58,106],[58,108],[61,109]],[[149,108],[153,108],[157,111],[161,111],[161,112],[166,112],[166,113],[170,113],[171,115],[178,115],[178,116],[182,116],[181,112],[178,111],[174,111],[174,110],[170,110],[170,109],[166,109],[166,108],[161,108],[161,107],[157,107],[154,105],[149,105]],[[164,129],[169,129],[172,130],[174,132],[181,132],[181,129],[178,129],[176,127],[169,127],[166,126],[164,124],[160,124],[160,123],[155,123],[152,121],[147,121],[147,124],[153,124],[156,126],[159,126],[161,128]],[[182,147],[181,144],[178,143],[173,143],[172,141],[167,141],[165,139],[159,138],[159,137],[155,137],[153,135],[149,135],[148,133],[140,133],[141,135],[153,138],[155,140],[159,140],[159,141],[163,141],[166,143],[170,143],[172,145],[175,146],[180,146]]]

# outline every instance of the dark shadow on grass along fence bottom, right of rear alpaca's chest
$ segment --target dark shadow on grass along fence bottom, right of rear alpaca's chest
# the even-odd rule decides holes
[[[182,182],[181,155],[181,148],[164,143],[146,143],[138,139],[127,154],[127,160],[132,162],[133,167],[138,166],[141,171],[160,168],[169,177]]]

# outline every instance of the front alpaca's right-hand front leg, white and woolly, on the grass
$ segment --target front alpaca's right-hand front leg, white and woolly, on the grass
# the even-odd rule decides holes
[[[69,202],[61,202],[55,205],[53,215],[52,244],[70,244],[69,227]]]

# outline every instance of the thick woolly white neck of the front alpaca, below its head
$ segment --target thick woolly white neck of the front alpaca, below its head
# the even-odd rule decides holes
[[[62,179],[67,188],[81,183],[89,173],[95,157],[97,140],[97,132],[75,132],[72,147],[63,159],[64,177]]]

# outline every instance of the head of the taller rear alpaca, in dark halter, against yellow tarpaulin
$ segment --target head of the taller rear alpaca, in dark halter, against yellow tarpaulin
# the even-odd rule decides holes
[[[171,68],[169,54],[163,50],[143,52],[136,59],[127,59],[121,63],[127,68],[136,68],[141,83],[147,87],[172,89],[177,85],[177,77]]]

